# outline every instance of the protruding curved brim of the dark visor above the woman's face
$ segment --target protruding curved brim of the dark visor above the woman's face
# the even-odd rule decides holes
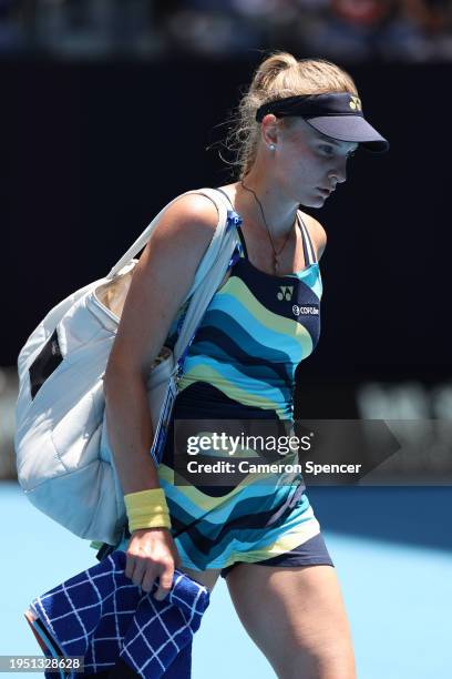
[[[384,153],[389,142],[360,115],[321,115],[306,119],[315,130],[338,141],[357,142],[372,153]]]

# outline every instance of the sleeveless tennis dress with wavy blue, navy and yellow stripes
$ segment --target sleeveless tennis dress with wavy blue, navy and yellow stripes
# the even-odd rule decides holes
[[[332,566],[301,474],[250,473],[236,486],[174,483],[175,420],[291,422],[295,371],[319,338],[321,277],[300,213],[306,267],[285,276],[251,264],[242,219],[233,210],[228,219],[238,224],[230,275],[213,296],[186,355],[158,468],[172,534],[183,566],[220,568],[223,577],[239,563]],[[170,346],[179,321],[170,330]],[[250,452],[242,454],[249,458]]]

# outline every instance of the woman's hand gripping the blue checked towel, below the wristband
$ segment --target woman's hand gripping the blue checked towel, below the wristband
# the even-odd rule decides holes
[[[125,577],[144,591],[151,591],[155,578],[158,578],[154,598],[162,601],[173,585],[174,569],[181,567],[181,557],[170,530],[134,530],[125,554]]]

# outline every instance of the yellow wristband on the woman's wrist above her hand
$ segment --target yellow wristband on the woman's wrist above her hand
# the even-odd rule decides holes
[[[124,495],[129,530],[171,528],[170,511],[162,488],[138,490]]]

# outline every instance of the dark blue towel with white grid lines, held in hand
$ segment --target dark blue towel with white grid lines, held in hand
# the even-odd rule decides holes
[[[172,589],[157,601],[157,584],[151,592],[133,585],[125,559],[116,550],[34,599],[30,609],[52,642],[42,645],[45,655],[52,657],[56,647],[63,656],[83,656],[84,673],[76,678],[111,669],[121,657],[144,679],[188,679],[193,635],[209,604],[208,590],[175,570]]]

